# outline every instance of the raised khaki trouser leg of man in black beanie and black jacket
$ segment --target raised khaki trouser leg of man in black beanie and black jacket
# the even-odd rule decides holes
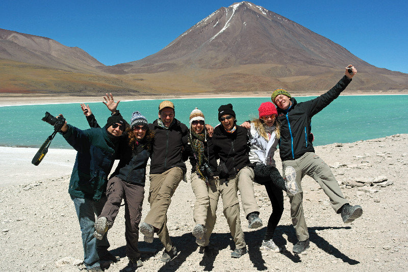
[[[251,212],[258,212],[259,208],[253,191],[253,169],[249,166],[242,168],[237,174],[238,190],[241,193],[241,203],[244,209],[245,217]]]

